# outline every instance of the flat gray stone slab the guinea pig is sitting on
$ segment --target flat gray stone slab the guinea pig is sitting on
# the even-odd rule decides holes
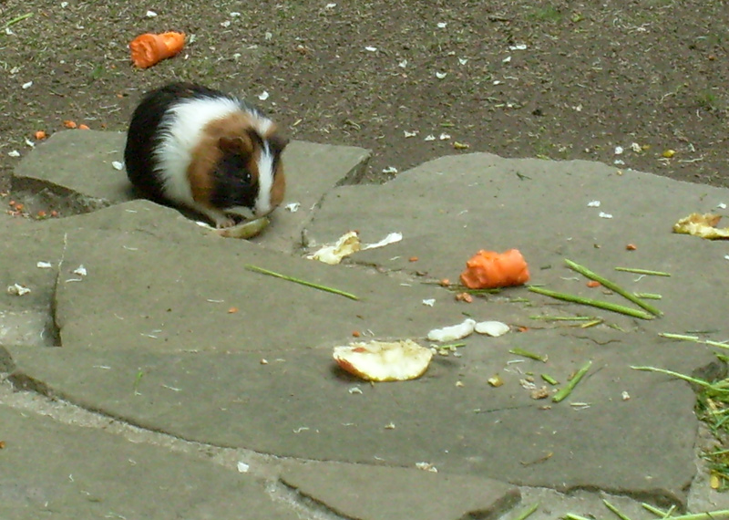
[[[29,207],[58,206],[65,215],[127,202],[134,193],[126,172],[112,165],[124,161],[125,143],[123,132],[57,132],[17,165],[13,192],[23,193]],[[295,211],[280,208],[274,213],[275,226],[266,232],[266,246],[288,252],[298,249],[303,226],[323,194],[335,185],[359,181],[369,157],[370,151],[353,146],[291,142],[283,155],[288,181],[283,204],[298,205]]]

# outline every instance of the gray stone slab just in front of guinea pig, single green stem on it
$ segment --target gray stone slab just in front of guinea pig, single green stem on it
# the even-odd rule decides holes
[[[346,343],[354,330],[422,337],[435,317],[460,318],[455,302],[437,313],[423,305],[436,287],[403,286],[374,269],[338,268],[223,239],[148,201],[48,224],[59,226],[66,240],[54,300],[65,348],[253,350],[273,356]],[[80,265],[87,276],[74,274]],[[246,265],[361,299],[254,273]]]

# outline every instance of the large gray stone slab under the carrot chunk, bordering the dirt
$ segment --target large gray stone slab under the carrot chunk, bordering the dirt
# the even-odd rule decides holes
[[[592,201],[601,206],[588,207]],[[661,294],[662,300],[654,303],[665,317],[641,326],[654,331],[721,330],[729,307],[723,281],[729,242],[671,232],[689,213],[721,213],[720,203],[729,203],[729,190],[621,172],[595,162],[474,153],[426,162],[383,186],[337,188],[327,194],[306,232],[318,244],[350,229],[360,230],[364,242],[399,231],[402,242],[357,253],[352,261],[453,282],[479,249],[516,247],[529,263],[533,283],[596,297],[584,278],[566,268],[564,258],[570,258],[631,291]],[[612,218],[601,218],[601,212]],[[626,250],[626,244],[636,244],[637,250]],[[414,256],[417,262],[409,262]],[[673,276],[618,273],[616,266]],[[509,289],[508,294],[527,297],[537,306],[554,304],[521,289]],[[625,303],[621,297],[599,296]],[[692,309],[689,302],[695,302]],[[589,312],[578,306],[563,310]],[[632,327],[631,319],[600,315]]]

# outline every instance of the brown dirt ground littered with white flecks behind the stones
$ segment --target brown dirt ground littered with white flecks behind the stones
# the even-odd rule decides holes
[[[128,41],[168,30],[183,52],[133,68]],[[488,151],[729,186],[723,0],[5,0],[0,68],[4,189],[37,130],[125,130],[172,79],[240,94],[293,139],[372,149],[372,182]]]

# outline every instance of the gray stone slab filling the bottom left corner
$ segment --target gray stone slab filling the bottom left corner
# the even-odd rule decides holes
[[[60,424],[0,404],[0,516],[294,520],[264,484],[188,454]]]

